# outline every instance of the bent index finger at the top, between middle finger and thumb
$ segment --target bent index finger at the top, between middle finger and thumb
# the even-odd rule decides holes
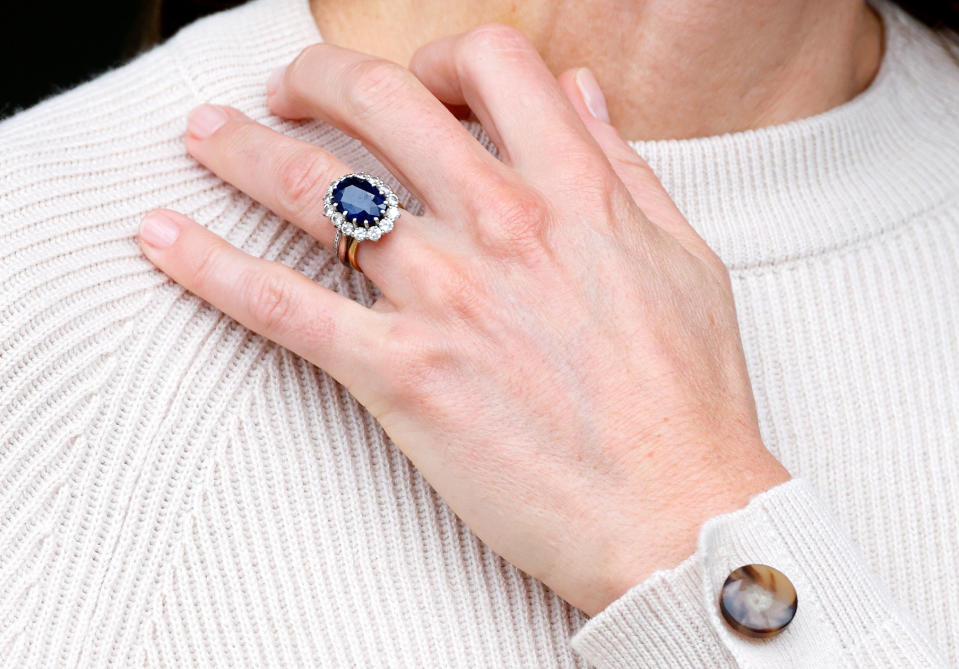
[[[468,105],[521,172],[553,175],[595,157],[556,78],[518,30],[490,24],[436,40],[413,54],[410,69],[444,103]]]

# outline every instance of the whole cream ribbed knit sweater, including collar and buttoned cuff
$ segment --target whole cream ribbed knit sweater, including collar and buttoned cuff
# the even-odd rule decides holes
[[[267,111],[269,72],[320,39],[307,0],[201,20],[0,124],[0,665],[959,666],[959,63],[879,8],[852,101],[634,143],[728,264],[794,478],[592,619],[479,541],[343,387],[138,250],[170,207],[379,296],[182,141],[213,101],[388,176]],[[796,586],[773,639],[719,615],[746,563]]]

